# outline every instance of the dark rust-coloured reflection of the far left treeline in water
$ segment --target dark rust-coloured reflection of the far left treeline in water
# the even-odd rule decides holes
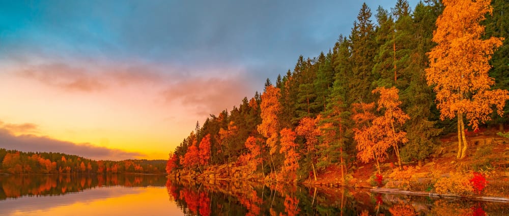
[[[95,187],[163,186],[163,175],[2,175],[0,200],[21,196],[64,195]]]

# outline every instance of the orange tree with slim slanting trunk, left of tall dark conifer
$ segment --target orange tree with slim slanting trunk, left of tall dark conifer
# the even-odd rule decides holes
[[[382,116],[373,120],[373,125],[378,128],[378,133],[381,135],[379,142],[384,142],[380,146],[388,145],[394,148],[401,169],[399,145],[408,142],[407,132],[403,131],[402,128],[403,124],[410,119],[410,116],[401,110],[398,92],[399,90],[395,87],[389,89],[378,87],[373,90],[372,93],[380,93],[377,111],[383,111]]]

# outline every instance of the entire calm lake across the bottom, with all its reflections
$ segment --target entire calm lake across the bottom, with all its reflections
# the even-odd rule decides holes
[[[0,175],[0,215],[382,214],[509,215],[509,203],[161,175]]]

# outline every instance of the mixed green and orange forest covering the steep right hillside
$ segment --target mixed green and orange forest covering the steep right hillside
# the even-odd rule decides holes
[[[263,92],[210,115],[169,154],[168,174],[219,165],[268,181],[341,178],[362,163],[421,165],[441,136],[504,129],[509,99],[509,2],[364,3],[349,35],[267,79]]]

